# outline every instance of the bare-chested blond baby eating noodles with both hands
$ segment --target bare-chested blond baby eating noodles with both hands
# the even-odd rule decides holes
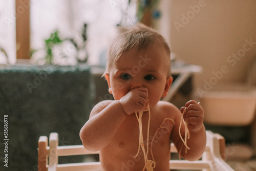
[[[182,158],[193,161],[201,157],[206,144],[201,105],[190,100],[179,110],[172,103],[160,101],[167,95],[173,78],[170,50],[159,33],[142,24],[121,28],[109,48],[104,76],[115,100],[96,104],[80,131],[83,146],[100,151],[103,170],[143,170],[141,149],[136,156],[140,133],[136,112],[143,112],[143,145],[149,146],[148,160],[155,162],[155,171],[169,170],[171,141]],[[182,123],[180,128],[183,111],[190,134],[186,144],[190,149],[186,149],[179,135],[180,129],[184,139],[185,125]]]

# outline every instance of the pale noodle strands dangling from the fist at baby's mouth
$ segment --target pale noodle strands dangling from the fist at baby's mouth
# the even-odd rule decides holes
[[[153,168],[156,167],[156,163],[153,160],[148,160],[147,159],[147,155],[148,155],[148,141],[149,141],[149,134],[150,134],[150,118],[151,118],[151,114],[150,114],[150,106],[147,104],[147,110],[148,110],[148,123],[147,123],[147,142],[146,142],[146,152],[145,152],[145,144],[143,141],[143,134],[142,134],[142,115],[143,115],[143,111],[137,113],[135,112],[135,115],[137,117],[137,120],[139,122],[139,130],[140,130],[140,135],[139,135],[139,148],[138,148],[138,152],[136,154],[136,156],[134,158],[136,158],[139,155],[140,152],[140,148],[142,149],[143,155],[144,155],[144,161],[145,161],[145,166],[143,168],[142,171],[145,170],[149,170],[149,171],[153,171]]]

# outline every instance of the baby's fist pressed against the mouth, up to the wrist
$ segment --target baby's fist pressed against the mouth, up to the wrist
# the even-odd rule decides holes
[[[140,112],[147,105],[147,88],[141,87],[131,90],[120,99],[122,109],[126,115]]]

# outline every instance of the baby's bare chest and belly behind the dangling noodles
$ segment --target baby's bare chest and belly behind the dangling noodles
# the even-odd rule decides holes
[[[143,147],[145,153],[148,151],[148,160],[155,160],[158,167],[169,161],[170,134],[173,126],[172,119],[152,117],[148,131],[148,117],[142,119]],[[116,163],[129,161],[134,165],[133,167],[143,168],[144,154],[142,148],[139,147],[139,136],[140,128],[137,118],[128,118],[120,125],[111,143],[104,149],[103,152],[108,153],[103,154],[109,154],[109,159],[118,156]],[[110,155],[111,152],[112,155]]]

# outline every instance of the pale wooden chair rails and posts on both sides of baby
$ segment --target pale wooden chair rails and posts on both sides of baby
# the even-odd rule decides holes
[[[225,139],[219,135],[206,131],[207,144],[201,160],[169,161],[170,169],[197,169],[203,171],[234,171],[223,159],[225,157]],[[170,153],[177,153],[174,144],[171,144]],[[51,133],[40,136],[38,141],[38,171],[76,171],[76,170],[101,170],[100,162],[82,162],[58,164],[58,156],[74,156],[98,154],[90,152],[83,145],[58,145],[58,134]]]

